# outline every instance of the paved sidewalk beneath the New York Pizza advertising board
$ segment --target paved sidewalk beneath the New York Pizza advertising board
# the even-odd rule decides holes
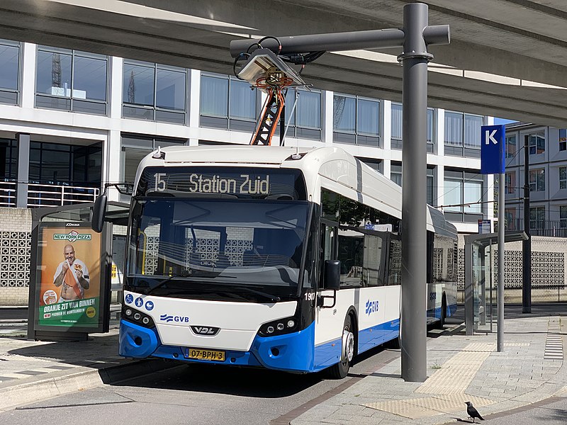
[[[118,328],[88,341],[43,342],[0,338],[0,412],[175,365],[118,356]]]

